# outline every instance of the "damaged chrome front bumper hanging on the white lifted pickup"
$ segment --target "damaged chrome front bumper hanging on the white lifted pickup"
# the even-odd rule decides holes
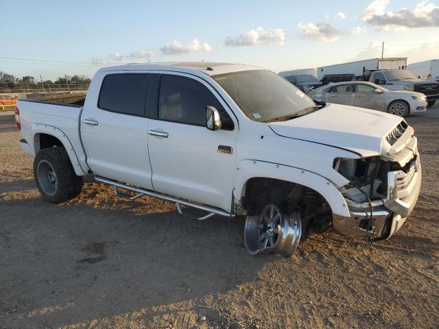
[[[408,150],[407,150],[408,151]],[[420,192],[421,168],[417,149],[410,149],[412,160],[404,172],[388,173],[388,193],[385,199],[372,201],[375,219],[375,240],[388,239],[395,234],[412,213]],[[347,236],[364,236],[370,228],[370,204],[348,203],[350,217],[333,215],[335,230]]]

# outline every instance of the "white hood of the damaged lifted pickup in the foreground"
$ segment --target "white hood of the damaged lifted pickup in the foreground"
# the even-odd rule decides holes
[[[361,156],[386,154],[383,138],[402,121],[400,117],[329,103],[316,112],[288,121],[269,123],[279,136],[348,149]]]

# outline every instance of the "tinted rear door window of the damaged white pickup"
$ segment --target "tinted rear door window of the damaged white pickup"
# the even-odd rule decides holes
[[[123,114],[145,115],[147,74],[109,74],[102,82],[98,108]]]

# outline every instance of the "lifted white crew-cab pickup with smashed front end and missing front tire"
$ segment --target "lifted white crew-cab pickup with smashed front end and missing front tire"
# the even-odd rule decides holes
[[[20,100],[16,122],[48,202],[76,197],[92,175],[119,197],[167,199],[205,211],[199,219],[246,215],[250,254],[288,255],[331,227],[388,239],[420,191],[404,119],[315,103],[255,66],[100,69],[83,106]]]

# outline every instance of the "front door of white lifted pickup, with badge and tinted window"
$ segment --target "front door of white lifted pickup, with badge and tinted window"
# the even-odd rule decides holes
[[[159,79],[148,138],[155,190],[230,211],[238,134],[233,113],[199,77],[175,73]],[[219,111],[221,130],[206,128],[206,106]]]

